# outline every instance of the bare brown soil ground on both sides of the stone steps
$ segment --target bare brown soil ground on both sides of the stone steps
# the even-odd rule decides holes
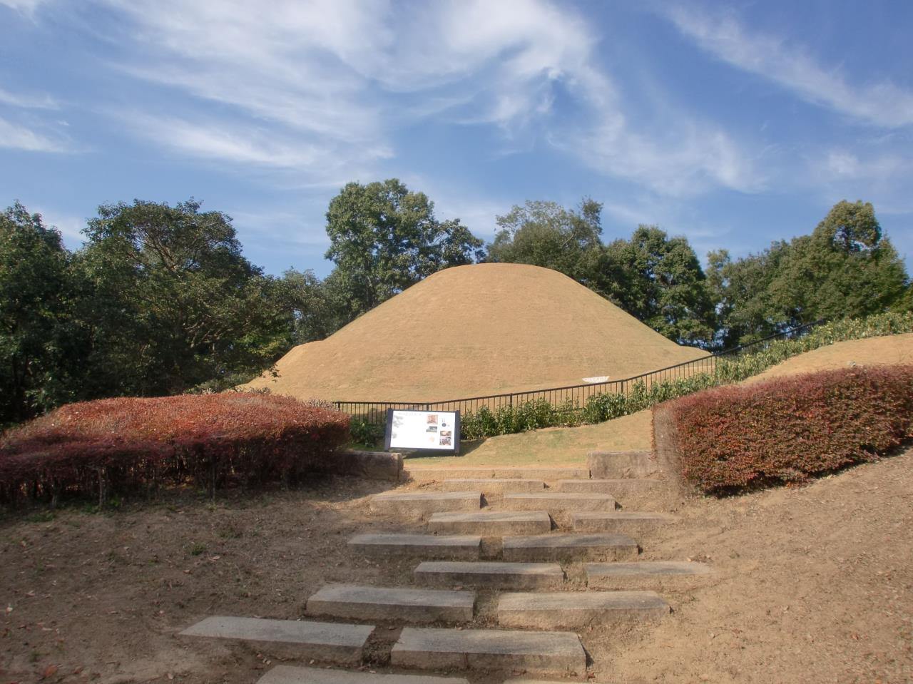
[[[367,561],[344,543],[417,529],[368,514],[380,489],[327,479],[215,506],[187,494],[5,518],[0,680],[255,681],[278,662],[268,651],[176,633],[206,615],[302,616],[325,583],[409,584],[415,563]],[[913,680],[911,491],[913,450],[801,489],[680,502],[682,520],[642,540],[643,557],[704,560],[718,574],[666,592],[674,613],[658,627],[582,632],[594,679]],[[567,571],[580,588],[580,567]],[[478,623],[490,626],[484,610]],[[385,671],[398,631],[375,634],[370,668]]]

